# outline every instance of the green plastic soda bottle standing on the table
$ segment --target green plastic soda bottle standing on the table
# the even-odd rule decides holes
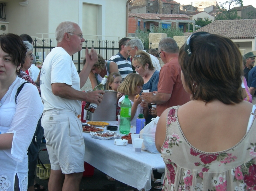
[[[129,134],[131,130],[131,115],[132,115],[132,103],[130,102],[128,95],[121,102],[120,111],[120,126],[119,131],[122,134]]]

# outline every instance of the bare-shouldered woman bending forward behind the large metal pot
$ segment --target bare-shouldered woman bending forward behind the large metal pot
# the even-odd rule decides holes
[[[95,86],[100,84],[101,80],[104,78],[105,75],[109,75],[112,72],[119,73],[118,66],[113,61],[106,61],[100,54],[98,54],[99,60],[95,63],[91,69],[89,74],[89,79],[92,83],[92,88],[94,89]],[[83,64],[86,64],[86,60],[83,60]],[[106,84],[105,84],[106,87]]]

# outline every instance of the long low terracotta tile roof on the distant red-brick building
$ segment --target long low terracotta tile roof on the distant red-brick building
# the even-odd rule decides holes
[[[140,17],[142,19],[155,19],[161,20],[160,17],[172,17],[172,18],[189,18],[188,15],[182,14],[154,14],[154,13],[129,13],[129,17]]]

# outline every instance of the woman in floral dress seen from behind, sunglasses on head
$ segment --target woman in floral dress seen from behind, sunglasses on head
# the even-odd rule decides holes
[[[165,110],[157,124],[163,190],[256,190],[256,107],[243,101],[237,46],[197,32],[181,47],[179,62],[191,101]]]

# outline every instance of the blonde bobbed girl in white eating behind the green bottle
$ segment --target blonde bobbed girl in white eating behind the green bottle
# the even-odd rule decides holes
[[[148,104],[142,102],[141,96],[139,95],[144,84],[143,78],[136,73],[130,73],[124,78],[121,85],[117,88],[117,91],[124,95],[128,95],[130,102],[132,103],[132,115],[131,125],[136,126],[136,118],[140,113],[144,114],[144,117],[148,117]],[[119,99],[118,106],[124,99],[124,95]]]

